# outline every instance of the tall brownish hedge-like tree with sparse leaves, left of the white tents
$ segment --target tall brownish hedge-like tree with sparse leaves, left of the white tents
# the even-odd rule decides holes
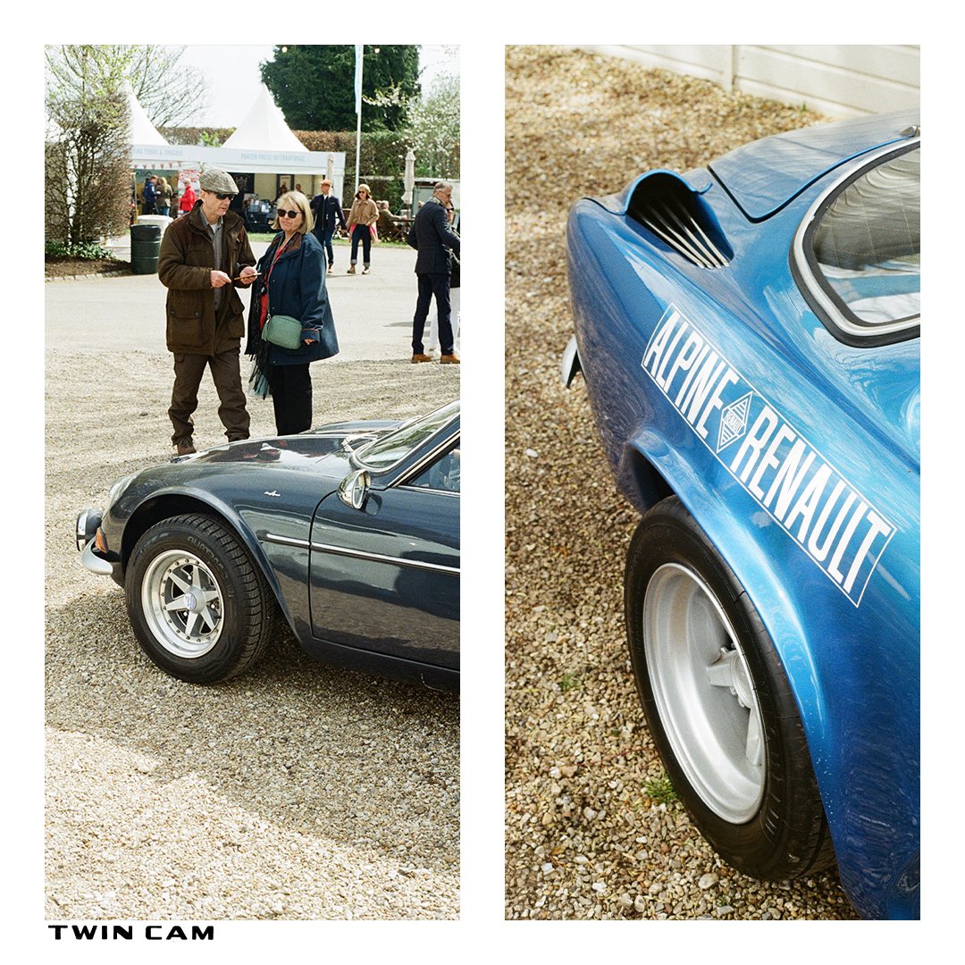
[[[126,55],[47,49],[46,237],[78,244],[126,228],[130,211]]]

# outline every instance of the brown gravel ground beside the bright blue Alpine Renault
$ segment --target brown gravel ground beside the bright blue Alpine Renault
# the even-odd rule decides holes
[[[578,197],[821,119],[564,48],[509,48],[506,84],[506,917],[853,918],[834,873],[763,884],[723,864],[669,792],[623,632],[638,517],[582,379],[558,374]]]

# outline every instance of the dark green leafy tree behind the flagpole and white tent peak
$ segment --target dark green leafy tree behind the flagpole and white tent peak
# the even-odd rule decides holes
[[[399,130],[419,94],[419,47],[365,44],[362,129]],[[354,130],[355,47],[352,44],[276,46],[262,80],[292,128]]]

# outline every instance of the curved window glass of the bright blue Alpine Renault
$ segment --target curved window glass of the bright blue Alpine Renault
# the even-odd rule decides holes
[[[920,315],[920,170],[920,149],[871,168],[833,196],[812,234],[816,281],[869,334]]]

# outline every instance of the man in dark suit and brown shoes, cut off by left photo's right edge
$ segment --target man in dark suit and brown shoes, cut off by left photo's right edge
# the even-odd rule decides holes
[[[452,307],[449,301],[450,252],[459,253],[459,235],[449,227],[447,208],[453,198],[453,185],[448,181],[436,181],[432,197],[419,208],[406,240],[419,252],[416,259],[416,277],[419,280],[419,298],[416,314],[412,318],[412,361],[431,362],[423,345],[428,308],[435,295],[435,307],[439,315],[439,362],[459,364],[453,350]]]

